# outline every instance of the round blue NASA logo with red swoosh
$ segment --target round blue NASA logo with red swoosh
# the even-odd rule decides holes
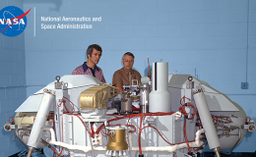
[[[27,15],[20,8],[8,6],[0,11],[0,33],[14,37],[20,35],[27,26]]]

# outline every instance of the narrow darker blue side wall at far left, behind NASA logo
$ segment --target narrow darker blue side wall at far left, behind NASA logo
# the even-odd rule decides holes
[[[0,10],[6,6],[23,9],[20,0],[0,0]],[[26,100],[25,34],[7,37],[0,34],[0,157],[13,155],[24,150],[23,144],[11,131],[4,131],[9,117]]]

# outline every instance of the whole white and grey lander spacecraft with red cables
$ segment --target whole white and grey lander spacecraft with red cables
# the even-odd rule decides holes
[[[16,132],[28,157],[46,146],[69,157],[194,157],[205,146],[221,156],[255,130],[224,93],[190,75],[168,75],[167,63],[153,63],[152,79],[132,82],[119,93],[93,76],[56,77],[4,129]]]

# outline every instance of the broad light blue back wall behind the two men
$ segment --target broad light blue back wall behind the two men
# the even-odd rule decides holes
[[[10,5],[7,1],[2,1]],[[248,116],[256,120],[254,114],[256,113],[254,108],[256,0],[249,0],[249,9],[247,0],[24,0],[23,2],[24,11],[32,8],[27,16],[25,56],[19,52],[21,53],[19,62],[18,59],[14,61],[2,59],[4,61],[0,61],[0,64],[9,67],[8,65],[13,66],[9,62],[22,64],[26,60],[26,80],[27,85],[30,86],[27,88],[28,96],[53,81],[57,75],[70,75],[86,60],[87,47],[96,43],[103,49],[98,66],[103,70],[104,77],[109,83],[113,73],[122,67],[122,55],[131,51],[136,56],[134,68],[142,76],[145,76],[147,69],[147,56],[151,63],[162,59],[163,62],[169,63],[169,72],[190,74],[205,80],[237,102]],[[87,23],[93,25],[92,29],[43,30],[40,28],[43,23],[41,17],[48,16],[101,17],[102,21]],[[68,23],[63,22],[63,24]],[[4,50],[16,56],[15,48],[11,48],[14,46],[13,40],[14,38],[0,35],[1,53]],[[24,40],[18,42],[20,46],[24,46],[22,41]],[[2,47],[1,43],[3,43]],[[16,68],[21,67],[22,74],[8,74],[9,71],[3,69],[1,65],[0,83],[6,82],[1,85],[14,85],[10,82],[13,75],[18,75],[17,78],[21,77],[19,82],[23,84],[25,68],[22,65],[16,66]],[[10,68],[10,70],[14,69]],[[246,79],[249,88],[241,89],[241,82]],[[18,84],[16,82],[15,85]],[[8,93],[7,90],[18,89],[21,88],[0,88],[0,92],[3,96]],[[16,93],[20,94],[20,92]],[[4,100],[16,99],[4,96]],[[13,111],[15,109],[8,112],[13,113]],[[2,112],[0,116],[5,120],[9,117]],[[256,136],[255,133],[251,135],[244,137],[234,151],[254,152]],[[11,141],[6,139],[7,133],[2,136],[3,140]]]

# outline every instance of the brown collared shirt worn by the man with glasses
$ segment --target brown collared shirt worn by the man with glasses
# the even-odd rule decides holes
[[[113,75],[112,79],[112,85],[114,86],[115,84],[121,84],[123,85],[136,85],[137,82],[133,80],[137,79],[138,83],[141,82],[141,75],[139,72],[135,70],[127,71],[126,69],[122,68],[118,71],[116,71]]]

